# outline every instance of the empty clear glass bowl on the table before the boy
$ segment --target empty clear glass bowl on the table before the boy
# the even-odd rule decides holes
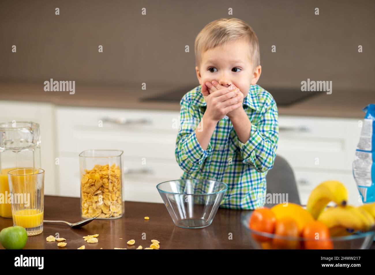
[[[175,225],[202,228],[212,223],[228,185],[209,179],[177,179],[156,188]]]

